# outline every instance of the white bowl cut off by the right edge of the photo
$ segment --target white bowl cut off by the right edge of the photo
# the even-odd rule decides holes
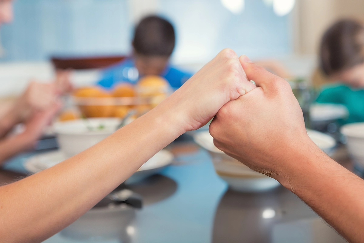
[[[347,138],[347,148],[355,164],[364,168],[364,122],[344,125],[341,133]]]

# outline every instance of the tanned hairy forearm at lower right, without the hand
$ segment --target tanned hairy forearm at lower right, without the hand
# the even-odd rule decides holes
[[[312,154],[297,160],[288,188],[349,242],[362,242],[364,181],[323,152]]]

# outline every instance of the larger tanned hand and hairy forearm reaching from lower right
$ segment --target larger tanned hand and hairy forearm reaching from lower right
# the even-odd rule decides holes
[[[240,58],[258,88],[228,102],[210,125],[214,144],[255,171],[278,180],[348,242],[363,242],[364,181],[308,137],[289,84]]]

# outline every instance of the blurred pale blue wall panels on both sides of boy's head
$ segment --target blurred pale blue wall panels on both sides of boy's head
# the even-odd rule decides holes
[[[234,15],[219,0],[160,0],[159,13],[177,29],[178,60],[206,60],[225,47],[253,58],[292,52],[289,17],[262,0],[245,0]],[[0,61],[50,55],[126,54],[133,23],[127,0],[17,0],[15,20],[1,28]]]

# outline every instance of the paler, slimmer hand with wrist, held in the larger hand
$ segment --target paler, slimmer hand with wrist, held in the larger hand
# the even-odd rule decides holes
[[[161,105],[176,113],[184,131],[195,130],[209,122],[226,102],[254,88],[236,53],[225,49]]]

